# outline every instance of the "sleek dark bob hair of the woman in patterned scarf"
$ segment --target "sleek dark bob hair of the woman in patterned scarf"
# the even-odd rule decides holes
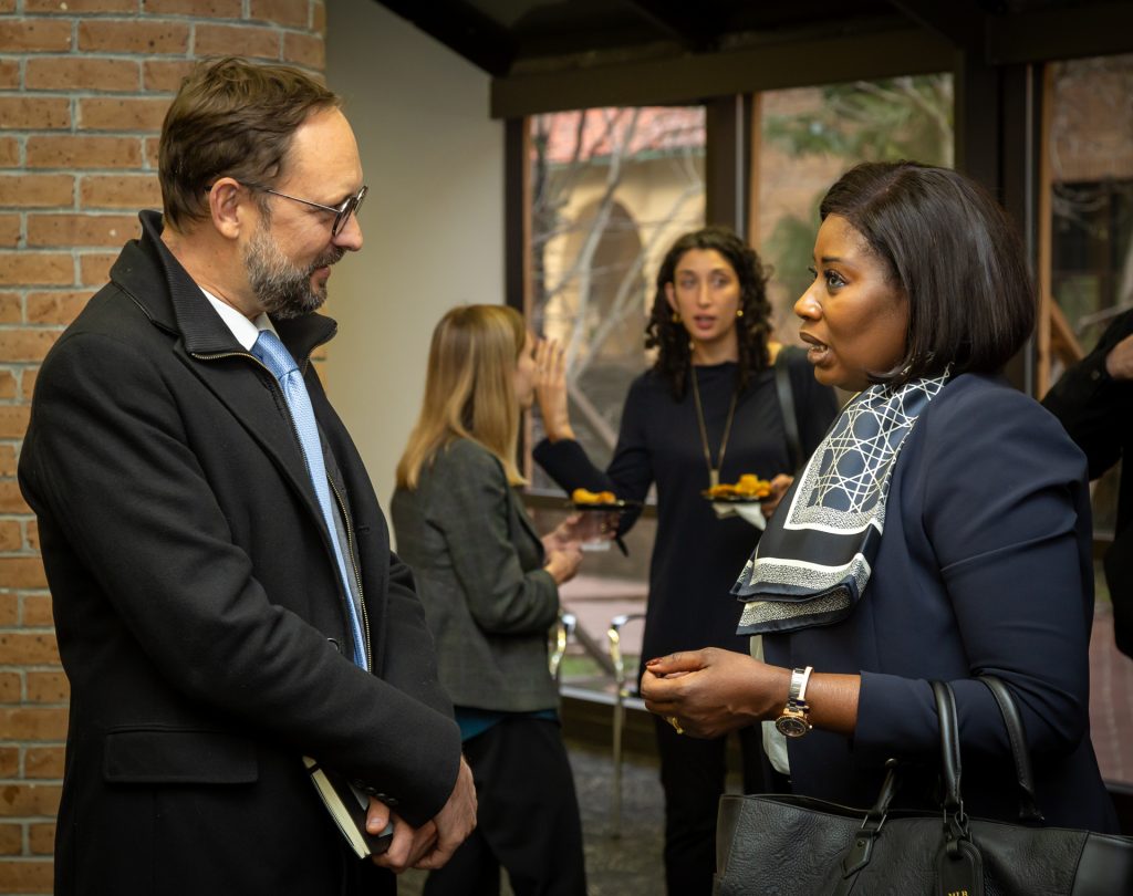
[[[866,162],[830,187],[819,213],[845,219],[909,301],[905,357],[877,382],[995,373],[1034,327],[1019,236],[963,174],[917,162]]]

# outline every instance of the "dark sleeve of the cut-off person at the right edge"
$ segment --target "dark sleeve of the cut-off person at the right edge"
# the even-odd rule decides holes
[[[1042,400],[1085,452],[1091,479],[1121,460],[1122,447],[1130,440],[1133,383],[1116,382],[1106,372],[1106,357],[1130,333],[1133,312],[1114,321],[1097,348],[1067,369]]]

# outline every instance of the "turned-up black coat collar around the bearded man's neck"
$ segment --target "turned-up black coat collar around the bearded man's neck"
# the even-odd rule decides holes
[[[162,242],[161,214],[146,211],[138,217],[142,220],[142,238],[126,245],[110,268],[110,279],[134,298],[155,325],[180,334],[190,355],[242,352],[244,349],[232,338],[232,331]],[[155,275],[165,281],[168,292],[153,288]],[[316,347],[333,339],[338,332],[338,324],[321,314],[286,319],[273,317],[272,324],[300,366]]]

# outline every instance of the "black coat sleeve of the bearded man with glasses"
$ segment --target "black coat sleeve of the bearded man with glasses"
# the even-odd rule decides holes
[[[457,726],[443,707],[355,666],[323,632],[269,599],[162,370],[125,341],[65,336],[35,401],[22,486],[76,552],[74,568],[59,575],[93,579],[184,698],[397,794],[398,811],[414,825],[432,818],[455,779]],[[387,618],[394,637],[415,632],[425,645],[410,581],[395,564]],[[404,674],[391,665],[394,677]]]

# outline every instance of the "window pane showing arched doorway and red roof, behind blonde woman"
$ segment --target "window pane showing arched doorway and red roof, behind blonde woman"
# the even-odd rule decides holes
[[[571,420],[604,466],[630,382],[647,366],[651,278],[670,244],[704,225],[705,110],[536,116],[530,145],[528,319],[565,345]],[[533,476],[534,487],[552,487]]]

